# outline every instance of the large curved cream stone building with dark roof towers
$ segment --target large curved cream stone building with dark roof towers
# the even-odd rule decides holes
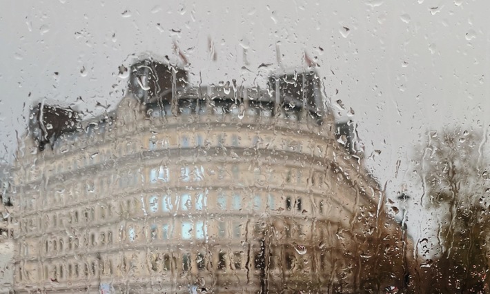
[[[377,240],[400,230],[352,144],[338,144],[349,128],[335,134],[315,72],[259,89],[192,86],[150,60],[130,70],[101,117],[32,108],[10,195],[15,293],[362,287]],[[382,246],[391,264],[396,248]],[[373,264],[378,286],[400,280]]]

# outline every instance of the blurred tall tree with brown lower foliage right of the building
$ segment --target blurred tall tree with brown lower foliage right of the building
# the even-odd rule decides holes
[[[488,293],[489,172],[485,137],[462,128],[429,132],[415,170],[422,203],[438,217],[440,252],[430,293]]]

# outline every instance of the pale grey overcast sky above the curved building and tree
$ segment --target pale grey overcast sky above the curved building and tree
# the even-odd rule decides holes
[[[177,61],[174,42],[195,84],[264,86],[268,70],[280,69],[277,48],[288,69],[304,66],[304,52],[316,58],[331,106],[358,124],[366,165],[391,197],[402,182],[412,184],[407,162],[425,130],[489,125],[490,1],[0,0],[0,7],[3,163],[12,161],[16,131],[25,133],[35,101],[97,115],[104,111],[97,102],[113,107],[126,89],[121,64],[146,53]]]

